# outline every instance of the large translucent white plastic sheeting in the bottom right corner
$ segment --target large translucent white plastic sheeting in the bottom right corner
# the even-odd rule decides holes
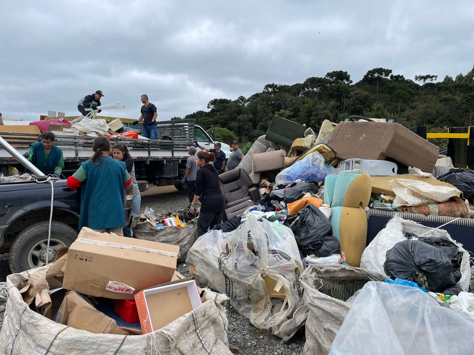
[[[330,355],[468,355],[474,322],[414,287],[368,282],[352,304]]]

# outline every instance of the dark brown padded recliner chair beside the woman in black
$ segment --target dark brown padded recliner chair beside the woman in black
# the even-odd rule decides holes
[[[248,200],[259,200],[258,191],[253,187],[252,180],[244,169],[236,168],[219,175],[219,184],[224,195],[224,211],[222,221],[243,213],[252,205]]]

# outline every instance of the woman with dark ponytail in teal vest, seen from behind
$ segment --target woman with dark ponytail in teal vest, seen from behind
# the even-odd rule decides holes
[[[81,164],[67,186],[82,186],[79,230],[88,227],[98,232],[122,234],[125,224],[123,187],[132,183],[125,163],[109,156],[110,142],[98,137],[92,144],[94,155]]]

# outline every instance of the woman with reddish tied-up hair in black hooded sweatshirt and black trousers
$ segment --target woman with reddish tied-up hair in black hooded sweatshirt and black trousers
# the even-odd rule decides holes
[[[224,196],[220,191],[219,175],[210,161],[216,161],[214,153],[200,151],[196,154],[196,165],[200,168],[196,172],[196,192],[191,203],[191,212],[196,211],[196,202],[201,196],[201,212],[198,219],[198,237],[207,233],[220,223],[224,209]]]

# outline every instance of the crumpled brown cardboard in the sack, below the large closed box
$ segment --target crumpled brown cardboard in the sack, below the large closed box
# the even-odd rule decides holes
[[[86,296],[75,291],[66,293],[55,321],[96,334],[129,334],[118,327],[115,320],[97,311]]]

